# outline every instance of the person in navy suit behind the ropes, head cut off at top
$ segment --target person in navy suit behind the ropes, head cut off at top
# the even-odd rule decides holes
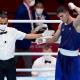
[[[16,11],[16,20],[30,20],[31,19],[31,11],[30,7],[35,4],[35,0],[23,0],[23,3],[19,5]],[[22,32],[31,33],[32,24],[31,23],[16,23],[14,27]],[[30,40],[17,40],[16,42],[16,51],[18,52],[29,52],[29,48],[31,45]],[[24,56],[25,67],[31,68],[32,60],[30,56]]]

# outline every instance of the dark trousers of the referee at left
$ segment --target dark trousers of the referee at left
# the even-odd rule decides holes
[[[0,80],[16,80],[16,64],[15,59],[0,60]]]

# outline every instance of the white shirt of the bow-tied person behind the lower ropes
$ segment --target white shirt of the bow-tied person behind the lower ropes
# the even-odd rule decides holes
[[[34,69],[48,69],[52,68],[51,71],[32,71],[32,75],[36,75],[37,77],[54,77],[55,78],[55,66],[56,66],[56,58],[52,57],[50,58],[51,63],[45,63],[44,56],[36,59],[33,63],[32,70]],[[53,79],[54,80],[54,79]]]

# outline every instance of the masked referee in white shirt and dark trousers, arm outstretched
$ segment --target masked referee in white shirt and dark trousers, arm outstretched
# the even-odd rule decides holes
[[[41,34],[26,34],[8,26],[7,13],[0,10],[0,80],[16,80],[14,59],[16,40],[35,39]]]

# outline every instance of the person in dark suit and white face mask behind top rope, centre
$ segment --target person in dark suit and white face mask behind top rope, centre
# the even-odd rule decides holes
[[[49,20],[50,17],[45,11],[44,4],[42,1],[36,2],[34,6],[34,10],[32,12],[32,16],[34,20]],[[34,30],[35,33],[41,33],[46,29],[52,29],[50,23],[35,23]]]

